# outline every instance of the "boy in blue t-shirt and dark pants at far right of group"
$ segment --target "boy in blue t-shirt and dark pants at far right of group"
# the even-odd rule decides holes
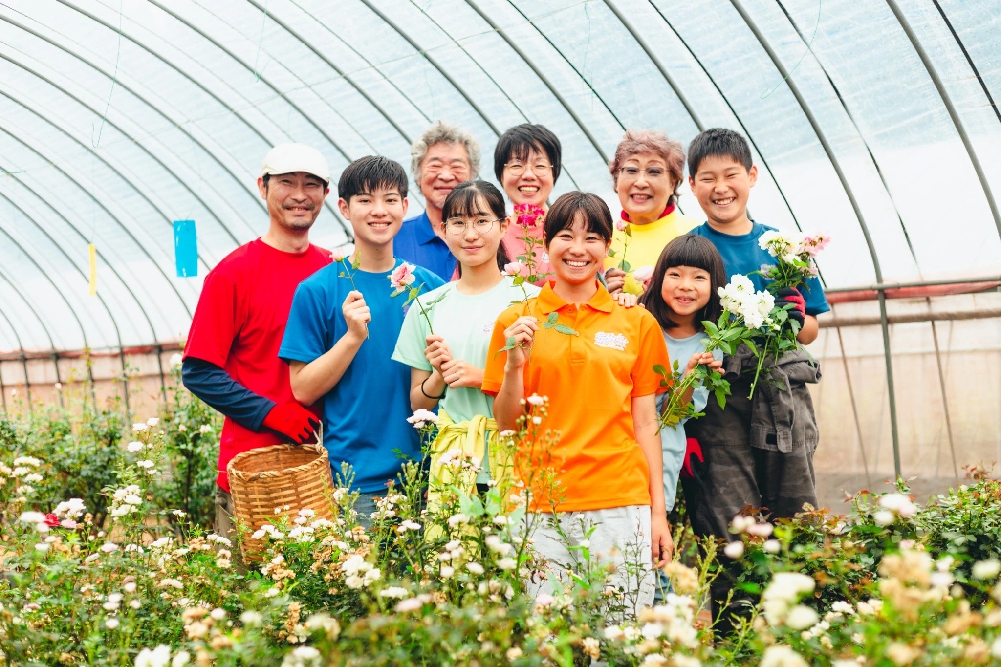
[[[748,217],[748,198],[758,169],[747,139],[733,130],[706,130],[692,140],[688,166],[689,185],[707,217],[689,233],[713,242],[723,256],[728,279],[743,273],[756,289],[766,289],[768,281],[763,276],[750,274],[762,264],[774,263],[758,239],[775,228]],[[803,291],[780,290],[775,301],[778,306],[793,304],[789,316],[800,324],[797,339],[801,344],[817,339],[817,315],[830,310],[817,278],[808,279]],[[749,375],[748,364],[738,360],[740,353],[724,359],[732,390],[726,407],[710,401],[705,416],[685,426],[689,437],[686,459],[694,474],[683,476],[682,486],[692,526],[701,537],[735,539],[729,524],[747,506],[763,508],[774,519],[803,511],[804,503],[818,504],[813,454],[819,434],[806,384],[820,379],[819,367],[805,353],[783,355],[781,371],[776,369],[777,376],[781,372],[789,379],[782,400],[768,398],[772,392],[764,386],[768,379],[763,377],[752,401],[748,395],[754,371]],[[727,576],[714,584],[714,616],[731,585]],[[729,614],[722,615],[724,628],[729,620]]]

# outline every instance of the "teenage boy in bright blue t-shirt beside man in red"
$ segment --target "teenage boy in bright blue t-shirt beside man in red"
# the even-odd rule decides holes
[[[410,416],[410,369],[393,361],[405,296],[393,298],[392,237],[406,215],[406,173],[384,157],[358,158],[337,183],[337,206],[354,231],[354,253],[306,278],[295,290],[278,356],[288,362],[292,393],[304,405],[323,399],[323,444],[334,474],[342,462],[354,473],[359,520],[385,495],[402,460],[420,443]],[[358,268],[352,270],[355,259]],[[442,285],[416,267],[421,293]]]

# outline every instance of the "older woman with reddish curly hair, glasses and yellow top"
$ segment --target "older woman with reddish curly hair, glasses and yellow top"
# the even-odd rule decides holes
[[[609,292],[640,295],[647,276],[637,269],[654,265],[673,239],[699,222],[678,210],[685,151],[660,130],[629,130],[609,164],[622,219],[616,222],[610,256],[605,260]]]

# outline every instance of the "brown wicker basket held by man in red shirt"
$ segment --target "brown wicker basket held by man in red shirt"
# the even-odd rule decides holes
[[[264,545],[250,533],[282,516],[294,518],[311,509],[315,519],[333,519],[330,494],[333,477],[322,445],[271,445],[241,452],[226,466],[236,525],[247,529],[242,537],[244,560],[260,560]],[[288,509],[285,509],[285,506]],[[275,508],[281,508],[275,512]]]

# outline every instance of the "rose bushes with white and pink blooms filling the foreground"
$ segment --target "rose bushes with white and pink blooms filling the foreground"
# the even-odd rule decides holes
[[[405,464],[368,529],[350,471],[334,519],[276,508],[242,561],[208,532],[217,417],[182,391],[156,418],[35,410],[0,422],[0,649],[18,665],[981,665],[1001,664],[998,509],[983,471],[928,506],[904,486],[854,499],[848,516],[806,508],[768,521],[750,509],[726,553],[679,526],[664,603],[629,613],[628,592],[587,544],[569,585],[532,593],[528,494],[559,434],[545,401],[499,447],[505,476],[466,494],[478,462],[448,457],[426,503],[426,471]],[[425,441],[434,422],[413,420]],[[103,434],[98,439],[95,434]],[[197,436],[197,437],[195,437]],[[95,443],[107,466],[72,479]],[[62,458],[61,458],[62,457]],[[67,463],[68,462],[68,463]],[[520,463],[519,463],[520,462]],[[529,483],[524,478],[529,476]],[[74,486],[74,484],[77,484]],[[290,514],[290,515],[289,515]],[[679,516],[684,517],[680,512]],[[528,534],[527,534],[528,531]],[[639,564],[636,564],[637,566]],[[705,607],[731,577],[735,631]],[[700,613],[701,612],[701,613]]]

